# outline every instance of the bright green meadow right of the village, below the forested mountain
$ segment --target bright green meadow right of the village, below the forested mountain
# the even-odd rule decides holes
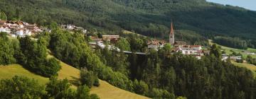
[[[213,41],[212,40],[209,40],[209,44],[210,45],[213,45]],[[218,45],[218,44],[216,44]],[[238,49],[235,49],[235,48],[230,48],[230,47],[225,47],[225,46],[222,46],[222,45],[218,45],[221,47],[221,49],[223,49],[227,54],[232,54],[234,52],[237,52],[237,53],[241,53],[242,54],[242,57],[246,58],[248,54],[244,53],[244,52],[255,52],[256,53],[256,49],[252,49],[252,48],[248,48],[247,50],[238,50]],[[252,58],[256,58],[256,55],[250,55],[252,56]]]

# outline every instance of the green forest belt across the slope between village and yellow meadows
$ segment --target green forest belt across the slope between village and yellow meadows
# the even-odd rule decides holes
[[[221,51],[217,45],[211,47],[209,55],[198,60],[195,57],[183,56],[181,53],[170,54],[171,47],[169,45],[158,52],[151,50],[146,55],[124,54],[108,49],[92,50],[87,45],[88,40],[85,35],[79,32],[69,33],[59,28],[53,28],[52,33],[41,33],[37,37],[38,40],[31,40],[30,37],[9,40],[5,33],[1,33],[1,45],[5,46],[4,49],[0,49],[0,55],[4,57],[4,59],[0,59],[0,64],[19,63],[36,74],[55,76],[60,66],[55,59],[45,57],[48,49],[57,59],[82,69],[81,87],[99,86],[97,79],[100,78],[114,86],[139,95],[146,95],[149,98],[242,99],[256,97],[254,94],[256,79],[252,71],[234,66],[230,60],[228,62],[221,61]],[[122,47],[121,50],[143,50],[143,39],[144,37],[136,35],[128,36],[119,40],[117,46]],[[8,42],[2,42],[3,40]],[[137,42],[142,42],[142,45],[134,46],[134,43]],[[32,53],[28,54],[28,50],[31,50]],[[37,58],[30,59],[28,56],[31,55]],[[247,59],[249,60],[250,57]],[[21,79],[24,78],[21,77]],[[36,84],[27,78],[21,81]],[[52,84],[56,82],[58,81],[53,81]],[[38,97],[54,96],[55,93],[47,87],[49,84],[45,89],[48,92],[40,92],[40,94],[38,92],[38,94],[36,93],[39,95]],[[6,80],[2,80],[0,85],[6,86]],[[0,90],[1,94],[16,96],[16,93],[7,93],[10,91],[5,90],[11,90],[11,88]],[[43,89],[41,88],[40,91]],[[33,96],[33,94],[28,95]],[[67,94],[65,93],[61,97],[74,98],[76,96],[75,92],[67,91]],[[17,96],[20,97],[18,92]]]

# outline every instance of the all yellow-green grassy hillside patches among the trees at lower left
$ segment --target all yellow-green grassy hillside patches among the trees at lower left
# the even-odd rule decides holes
[[[68,78],[70,83],[73,84],[72,88],[76,88],[74,84],[78,82],[78,78],[80,77],[80,71],[78,69],[73,68],[72,66],[69,66],[68,64],[65,64],[63,62],[60,62],[60,65],[62,66],[62,69],[58,72],[58,78]],[[41,84],[46,84],[48,82],[48,78],[38,76],[36,74],[31,73],[30,71],[24,69],[19,64],[11,64],[9,66],[0,66],[0,79],[4,78],[12,78],[13,76],[27,76],[28,78],[34,78],[38,80]],[[120,88],[114,87],[110,85],[110,83],[107,83],[106,81],[100,80],[100,87],[98,88],[92,88],[90,93],[96,93],[99,95],[100,98],[106,99],[142,99],[146,98],[142,95],[137,95],[135,93],[131,93],[129,91],[124,91]]]

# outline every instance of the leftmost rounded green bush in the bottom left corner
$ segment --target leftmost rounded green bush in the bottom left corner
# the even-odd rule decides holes
[[[14,76],[0,81],[1,98],[41,98],[45,94],[44,87],[34,79]]]

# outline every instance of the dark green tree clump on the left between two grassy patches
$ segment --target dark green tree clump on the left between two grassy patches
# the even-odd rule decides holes
[[[55,58],[47,59],[47,41],[40,37],[31,40],[30,37],[19,38],[21,52],[18,54],[18,63],[26,69],[42,76],[54,76],[58,74],[61,66]]]

